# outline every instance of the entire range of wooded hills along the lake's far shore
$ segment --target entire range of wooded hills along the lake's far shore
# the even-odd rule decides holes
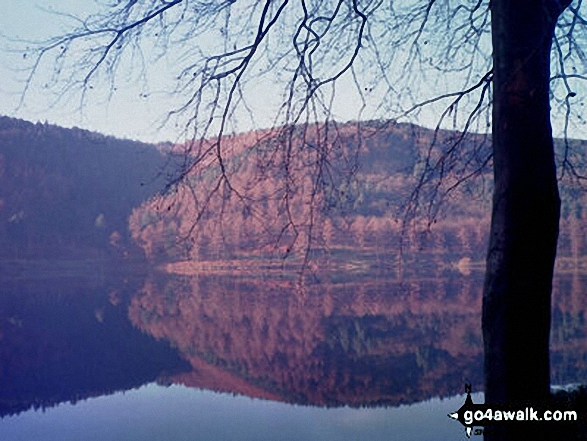
[[[316,262],[347,269],[366,261],[395,265],[400,241],[404,258],[423,268],[424,257],[442,267],[460,262],[465,272],[471,262],[482,265],[490,219],[488,171],[453,191],[434,223],[418,218],[402,230],[402,204],[418,184],[421,158],[433,140],[432,157],[461,134],[393,122],[361,126],[360,132],[353,123],[329,127],[328,139],[323,126],[295,127],[288,178],[283,150],[277,149],[283,142],[279,129],[227,136],[224,165],[238,194],[223,185],[208,199],[221,172],[218,164],[205,159],[188,173],[189,185],[166,194],[168,176],[161,171],[189,166],[216,140],[154,146],[0,117],[0,259],[146,255],[154,263],[191,260],[242,269],[268,257],[296,261],[311,237]],[[481,135],[463,142],[467,148],[490,147]],[[564,151],[562,141],[557,146]],[[567,145],[578,170],[585,166],[586,149],[585,141]],[[327,161],[318,164],[316,158],[326,153]],[[213,158],[214,150],[207,154]],[[445,176],[446,183],[454,179]],[[587,198],[566,181],[561,195],[559,266],[587,269],[581,259],[587,254]],[[426,198],[423,192],[421,202]]]

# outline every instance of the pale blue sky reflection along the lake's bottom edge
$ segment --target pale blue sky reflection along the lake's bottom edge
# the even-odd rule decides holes
[[[459,396],[399,408],[324,409],[151,384],[7,418],[0,433],[2,441],[460,440],[462,426],[446,415],[463,401]]]

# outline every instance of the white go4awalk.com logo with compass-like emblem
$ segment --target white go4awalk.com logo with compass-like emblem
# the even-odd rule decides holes
[[[471,385],[465,385],[467,397],[465,404],[449,418],[460,421],[465,426],[467,437],[483,434],[481,427],[501,426],[520,423],[561,423],[576,422],[578,414],[572,409],[550,408],[548,406],[501,406],[475,404],[471,398]],[[476,429],[475,429],[476,428]]]

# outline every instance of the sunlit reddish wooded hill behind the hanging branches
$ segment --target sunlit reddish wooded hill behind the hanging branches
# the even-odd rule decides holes
[[[216,268],[236,268],[235,261],[267,256],[295,260],[305,252],[310,235],[313,257],[324,262],[356,258],[376,266],[392,265],[401,240],[404,257],[425,254],[444,266],[460,261],[463,271],[469,261],[481,264],[490,221],[489,167],[481,177],[457,187],[432,224],[419,218],[414,227],[402,230],[402,204],[418,184],[421,158],[433,140],[430,155],[438,157],[440,149],[450,148],[461,134],[392,122],[365,122],[360,132],[352,123],[337,125],[335,130],[319,145],[316,140],[323,136],[323,127],[296,128],[290,138],[287,183],[283,150],[275,148],[283,142],[278,130],[223,138],[224,166],[236,192],[227,191],[224,184],[214,192],[221,171],[217,164],[204,161],[204,166],[188,174],[189,185],[133,212],[133,237],[157,261],[233,262],[217,263]],[[200,150],[192,148],[189,155],[214,142]],[[462,142],[465,148],[482,146],[485,152],[491,144],[488,137],[475,134]],[[562,152],[564,142],[556,143]],[[587,142],[570,141],[569,147],[567,153],[580,169]],[[326,165],[318,167],[316,158],[321,152],[329,156]],[[317,176],[322,180],[319,186]],[[445,185],[456,179],[447,173]],[[286,185],[293,197],[286,195]],[[567,266],[583,265],[578,259],[587,254],[587,199],[566,181],[561,183],[561,195],[559,256],[575,262],[566,262]],[[424,206],[428,202],[424,191],[420,202]],[[195,225],[204,204],[208,209]]]

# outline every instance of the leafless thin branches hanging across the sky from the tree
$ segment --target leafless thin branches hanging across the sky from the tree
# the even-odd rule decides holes
[[[487,136],[483,136],[490,128],[489,4],[488,0],[119,3],[87,19],[68,17],[77,22],[77,29],[37,46],[21,106],[40,76],[41,64],[50,58],[55,63],[52,84],[61,86],[57,100],[64,99],[65,91],[77,89],[83,104],[104,77],[110,79],[110,94],[114,93],[114,78],[125,54],[131,54],[130,64],[144,66],[140,69],[145,81],[144,70],[150,63],[172,56],[177,69],[170,93],[177,106],[163,123],[177,121],[191,141],[183,143],[184,160],[167,190],[191,186],[186,194],[197,209],[187,233],[195,231],[206,210],[224,212],[229,203],[261,221],[252,195],[258,188],[239,177],[247,161],[256,157],[255,179],[277,182],[278,177],[280,182],[271,194],[282,216],[276,244],[290,241],[288,255],[303,237],[308,257],[316,213],[333,199],[332,189],[341,181],[337,174],[348,175],[349,188],[356,175],[365,130],[361,120],[388,119],[381,124],[384,127],[431,114],[429,126],[435,135],[426,148],[420,146],[421,169],[406,203],[410,213],[406,219],[422,210],[430,224],[441,201],[490,165]],[[583,90],[579,82],[587,79],[583,10],[583,1],[576,0],[565,11],[554,44],[553,102],[564,113],[565,138],[571,121],[580,120],[580,115],[573,118],[572,98]],[[150,55],[145,47],[156,50]],[[439,73],[447,78],[443,84],[430,80]],[[261,82],[267,96],[281,96],[282,104],[273,112],[270,126],[261,123],[273,127],[264,139],[237,154],[227,140],[237,130],[239,118],[259,124],[257,109],[262,104],[251,98]],[[359,120],[357,142],[343,148],[333,120],[341,108],[346,116],[351,107]],[[445,128],[454,130],[451,139],[439,135]],[[481,135],[473,136],[474,132]],[[473,138],[477,144],[469,147]],[[561,177],[567,171],[580,177],[572,156],[566,149]],[[302,169],[311,172],[310,182],[302,178]],[[201,176],[211,179],[212,185],[198,188]],[[296,204],[302,194],[310,208],[300,215]],[[267,226],[267,231],[271,228]]]

